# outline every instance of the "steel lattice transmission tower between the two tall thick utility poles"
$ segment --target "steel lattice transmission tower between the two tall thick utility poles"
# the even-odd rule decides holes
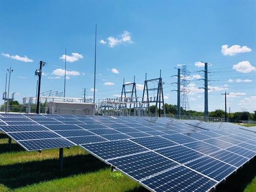
[[[181,107],[185,110],[189,110],[189,103],[188,103],[188,84],[190,83],[189,75],[190,71],[187,70],[187,66],[183,65],[182,69],[180,70],[180,88],[181,88],[181,95],[180,95],[180,101],[181,101]]]

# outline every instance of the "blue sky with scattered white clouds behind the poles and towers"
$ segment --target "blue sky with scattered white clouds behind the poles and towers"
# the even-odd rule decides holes
[[[145,73],[158,78],[161,69],[165,102],[176,104],[171,83],[177,79],[170,76],[183,64],[191,72],[190,109],[203,111],[203,91],[197,89],[203,87],[197,80],[203,68],[195,63],[205,61],[212,72],[209,111],[224,109],[221,93],[227,91],[232,112],[252,112],[255,8],[255,1],[0,1],[0,90],[11,66],[10,93],[16,92],[20,101],[35,96],[34,71],[43,60],[41,90],[63,91],[65,62],[60,57],[67,48],[72,62],[67,62],[66,96],[82,97],[84,88],[93,96],[97,24],[96,99],[117,97],[123,78],[131,82],[134,75],[140,89]]]

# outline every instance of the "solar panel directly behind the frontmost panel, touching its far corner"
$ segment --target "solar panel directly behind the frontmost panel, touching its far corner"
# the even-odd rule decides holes
[[[163,148],[156,152],[181,164],[204,156],[203,154],[182,145]]]

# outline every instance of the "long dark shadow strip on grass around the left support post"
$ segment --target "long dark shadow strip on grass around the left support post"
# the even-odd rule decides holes
[[[42,181],[96,172],[107,165],[92,155],[77,155],[63,158],[63,166],[63,170],[60,170],[58,159],[0,166],[0,183],[14,189]]]

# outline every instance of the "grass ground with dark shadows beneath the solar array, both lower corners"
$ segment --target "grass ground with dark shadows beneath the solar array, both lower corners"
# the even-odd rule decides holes
[[[8,138],[0,133],[0,191],[147,191],[80,147],[64,149],[64,168],[59,170],[58,152],[26,152],[15,142],[9,150]],[[256,191],[255,167],[254,159],[216,191]]]

